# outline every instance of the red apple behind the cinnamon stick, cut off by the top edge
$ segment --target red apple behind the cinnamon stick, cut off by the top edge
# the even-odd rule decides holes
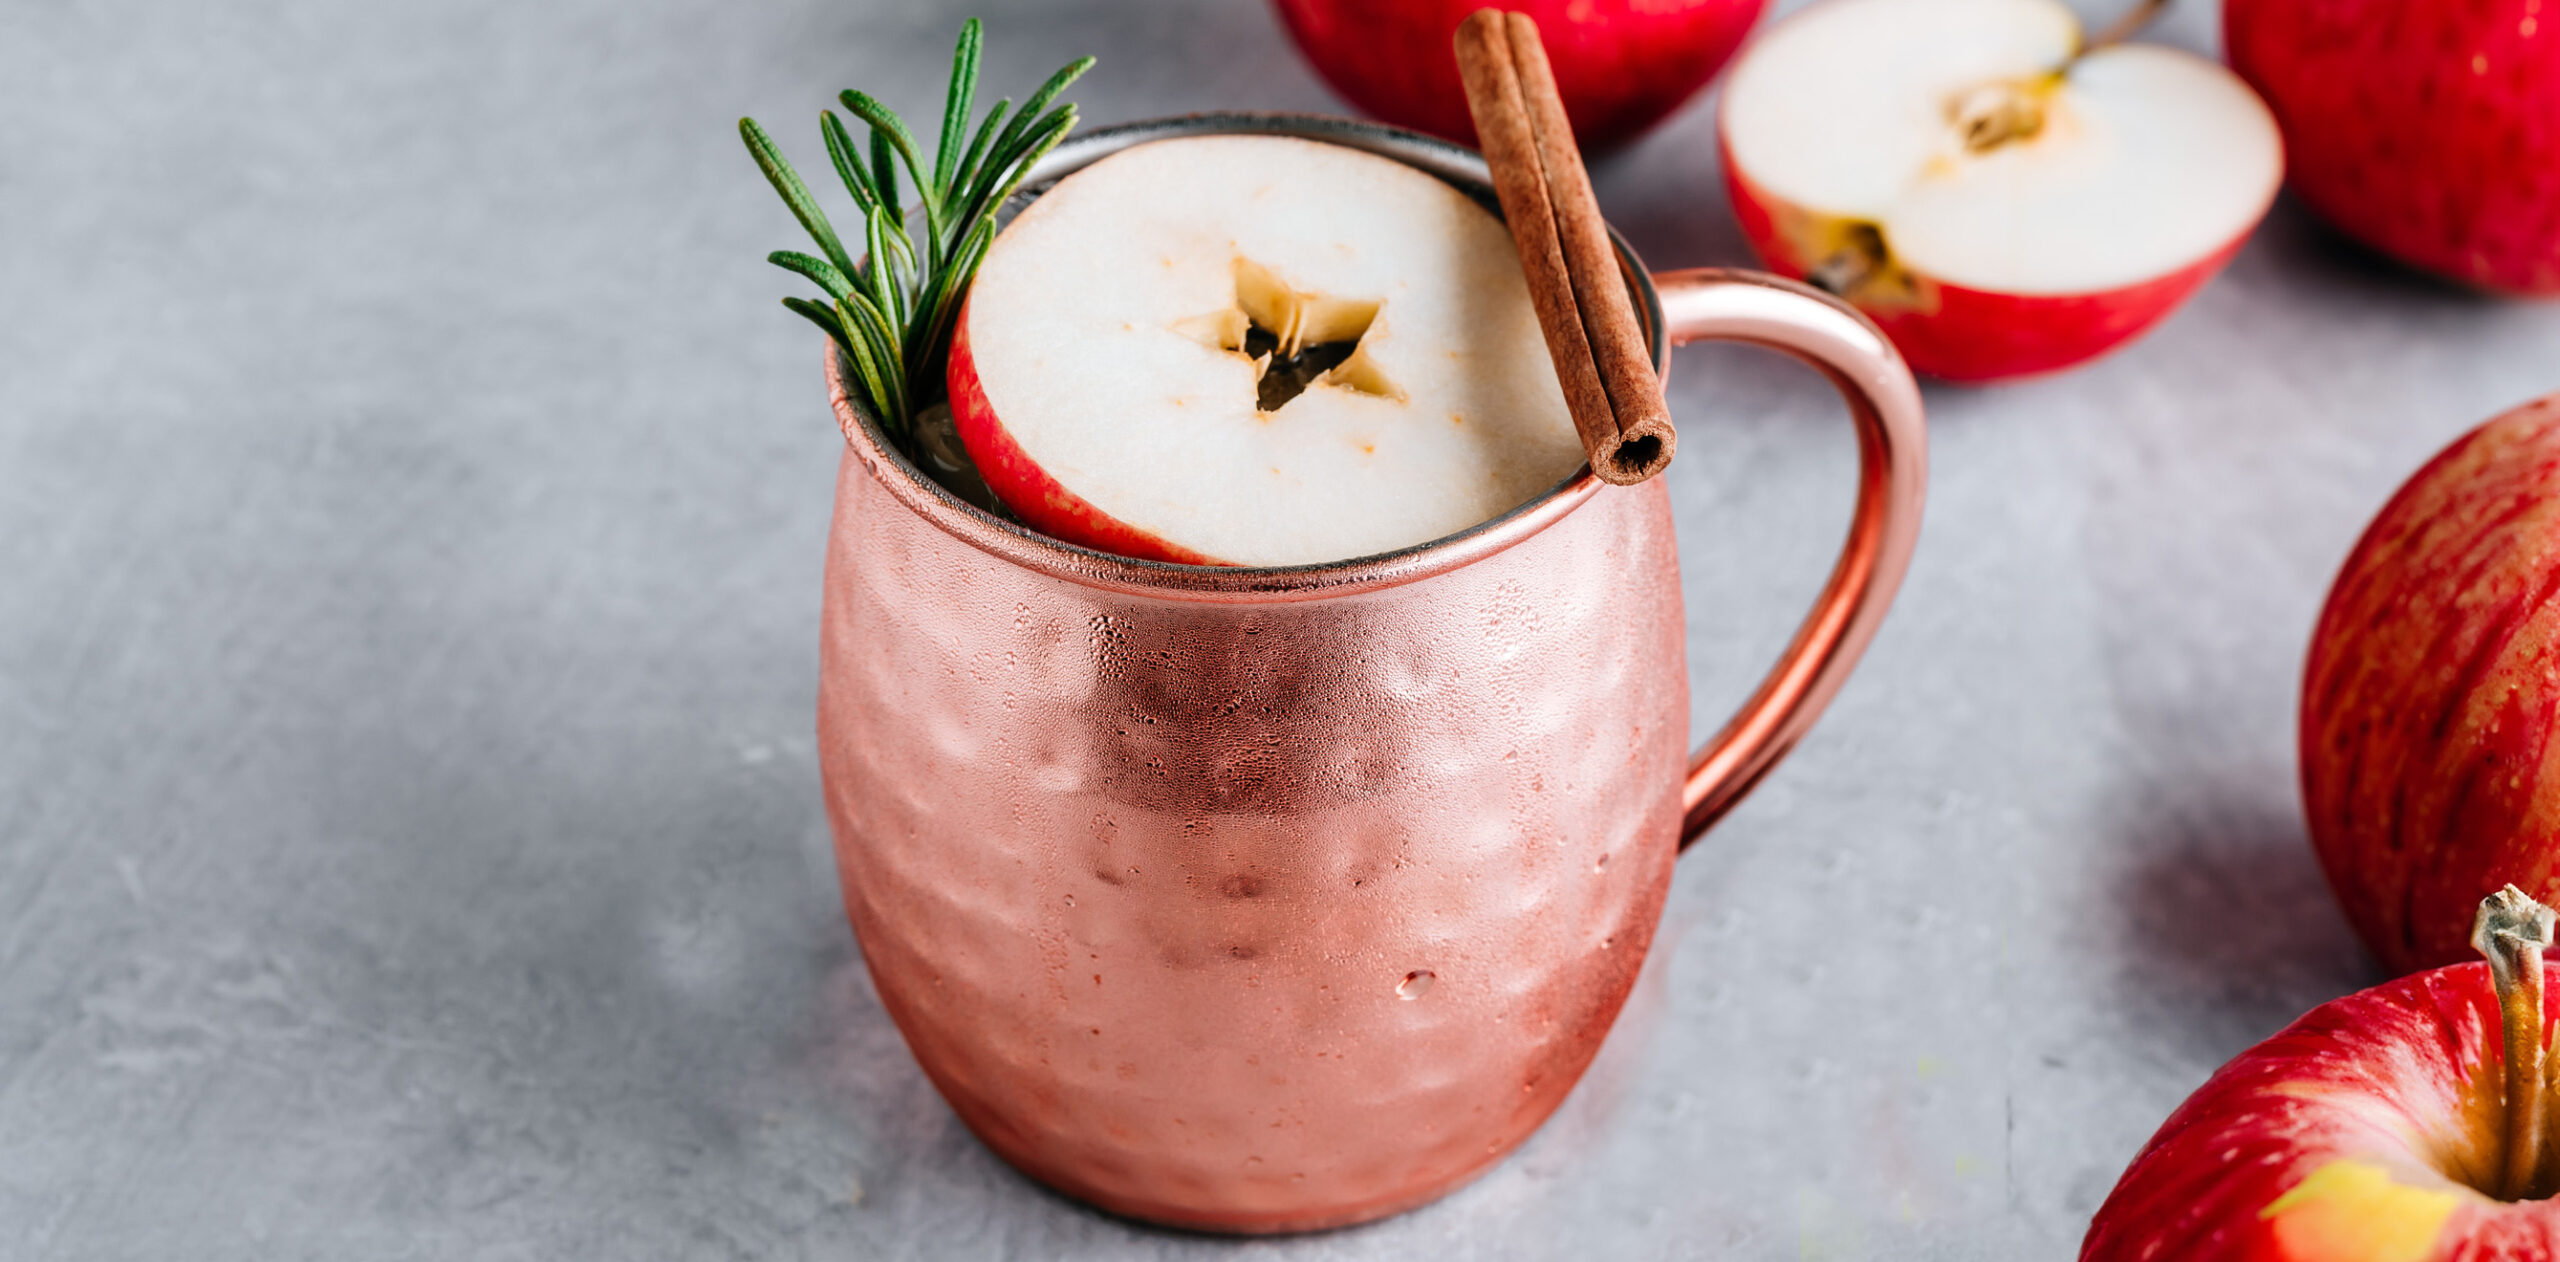
[[[1528,13],[1585,151],[1615,148],[1697,95],[1766,0],[1505,0]],[[1457,23],[1485,0],[1275,0],[1316,74],[1388,123],[1472,146]]]

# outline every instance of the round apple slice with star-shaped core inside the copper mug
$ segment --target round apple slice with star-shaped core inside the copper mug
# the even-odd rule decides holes
[[[1044,192],[978,269],[950,394],[1024,522],[1149,561],[1390,553],[1582,466],[1503,223],[1280,136],[1152,141]]]

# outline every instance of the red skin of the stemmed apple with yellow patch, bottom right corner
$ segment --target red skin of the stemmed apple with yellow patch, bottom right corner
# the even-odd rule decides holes
[[[2542,975],[2560,993],[2560,962]],[[2322,1003],[2168,1116],[2081,1262],[2550,1262],[2560,1201],[2493,1201],[2458,1178],[2493,1178],[2504,1060],[2481,960]]]

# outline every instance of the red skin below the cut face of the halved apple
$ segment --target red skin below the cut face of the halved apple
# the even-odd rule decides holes
[[[1805,212],[1754,184],[1723,148],[1725,192],[1743,238],[1769,271],[1805,279],[1820,259],[1805,259],[1782,223]],[[2186,302],[2214,279],[2248,230],[2220,251],[2179,271],[2092,294],[1994,294],[1915,276],[1920,305],[1856,302],[1902,358],[1940,381],[2010,381],[2086,363],[2115,351]]]

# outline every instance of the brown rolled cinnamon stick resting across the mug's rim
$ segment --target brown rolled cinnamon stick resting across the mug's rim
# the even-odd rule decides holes
[[[1661,474],[1679,435],[1539,23],[1477,10],[1457,28],[1457,69],[1592,474],[1620,486]]]

